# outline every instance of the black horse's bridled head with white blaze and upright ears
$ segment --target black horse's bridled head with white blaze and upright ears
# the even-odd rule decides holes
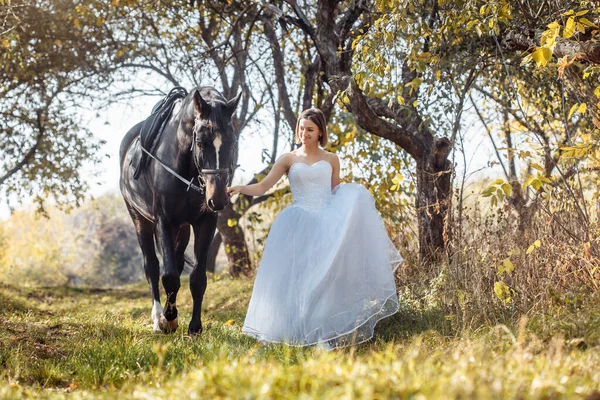
[[[192,96],[192,157],[204,186],[206,206],[219,211],[229,202],[227,186],[233,177],[238,141],[231,118],[241,93],[227,101],[215,89],[203,88],[195,89]]]

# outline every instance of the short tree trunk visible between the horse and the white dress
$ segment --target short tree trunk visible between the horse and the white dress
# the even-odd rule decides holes
[[[246,237],[239,226],[240,217],[241,215],[229,204],[223,211],[219,211],[217,219],[217,229],[225,246],[229,273],[234,277],[246,274],[251,269]],[[228,221],[233,222],[233,226],[229,226]]]

